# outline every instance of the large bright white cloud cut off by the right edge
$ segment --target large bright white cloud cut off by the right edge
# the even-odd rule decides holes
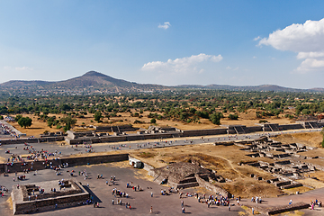
[[[284,30],[270,33],[258,45],[297,52],[296,58],[304,59],[298,71],[324,69],[324,19],[289,25]]]

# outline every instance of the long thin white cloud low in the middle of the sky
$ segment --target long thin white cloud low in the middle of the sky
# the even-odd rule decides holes
[[[196,56],[175,58],[175,60],[168,59],[163,61],[152,61],[144,64],[143,70],[164,71],[167,73],[181,73],[187,74],[190,72],[197,72],[197,65],[203,61],[219,62],[222,59],[221,55],[213,56],[201,53]],[[199,70],[201,71],[201,69]]]

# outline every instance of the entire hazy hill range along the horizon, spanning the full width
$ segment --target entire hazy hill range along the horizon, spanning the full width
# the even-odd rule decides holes
[[[34,94],[111,94],[111,93],[135,93],[157,92],[175,89],[217,89],[229,91],[275,91],[275,92],[324,92],[324,88],[296,89],[279,85],[154,85],[137,84],[122,79],[116,79],[95,71],[89,71],[83,76],[71,79],[47,82],[47,81],[23,81],[12,80],[0,84],[2,94],[34,95]]]

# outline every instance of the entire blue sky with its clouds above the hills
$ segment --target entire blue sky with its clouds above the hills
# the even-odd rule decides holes
[[[323,1],[0,1],[0,82],[324,87]]]

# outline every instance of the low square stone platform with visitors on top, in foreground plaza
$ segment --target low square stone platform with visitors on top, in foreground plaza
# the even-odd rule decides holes
[[[69,179],[14,185],[11,194],[14,214],[50,211],[56,208],[75,206],[90,198],[84,187]],[[55,190],[54,190],[55,188]]]

